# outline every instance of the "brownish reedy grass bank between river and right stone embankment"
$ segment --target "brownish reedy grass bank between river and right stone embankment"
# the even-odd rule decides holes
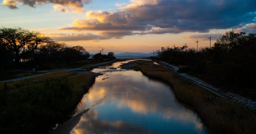
[[[256,114],[245,106],[229,99],[215,97],[180,75],[170,72],[168,68],[141,62],[134,69],[170,83],[176,97],[195,107],[208,128],[215,133],[256,133]]]

